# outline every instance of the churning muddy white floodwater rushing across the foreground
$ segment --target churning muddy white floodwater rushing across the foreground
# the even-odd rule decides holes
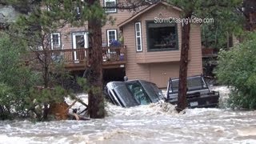
[[[166,103],[106,110],[106,118],[90,121],[0,122],[0,143],[256,143],[256,111],[177,114]]]

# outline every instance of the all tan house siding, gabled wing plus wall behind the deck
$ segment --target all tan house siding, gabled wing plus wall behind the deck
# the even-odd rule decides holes
[[[103,0],[101,0],[103,4]],[[146,22],[154,21],[158,18],[179,18],[180,11],[164,4],[153,6],[145,13],[138,15],[137,18],[126,23],[119,29],[118,24],[126,21],[134,13],[127,10],[118,10],[109,16],[116,18],[114,25],[106,22],[102,27],[102,45],[107,44],[106,30],[117,30],[117,36],[122,30],[124,45],[126,46],[126,75],[129,79],[143,79],[156,83],[159,87],[166,87],[169,78],[178,78],[180,50],[182,46],[182,25],[177,24],[178,31],[178,50],[154,51],[147,50]],[[141,22],[142,26],[142,52],[137,52],[135,48],[135,22]],[[87,25],[82,27],[65,26],[58,30],[61,32],[63,49],[72,49],[72,33],[88,31]],[[190,51],[188,75],[202,73],[202,52],[201,52],[201,32],[199,25],[191,25],[190,31]]]

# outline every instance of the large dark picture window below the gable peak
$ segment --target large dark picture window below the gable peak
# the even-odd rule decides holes
[[[148,50],[178,50],[177,31],[175,23],[147,22]]]

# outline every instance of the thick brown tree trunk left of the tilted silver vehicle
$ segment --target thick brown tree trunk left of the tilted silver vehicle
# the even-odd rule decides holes
[[[98,0],[89,0],[91,6]],[[88,98],[88,114],[90,118],[104,118],[104,98],[102,96],[102,22],[97,16],[88,21],[89,29],[89,66],[90,91]]]

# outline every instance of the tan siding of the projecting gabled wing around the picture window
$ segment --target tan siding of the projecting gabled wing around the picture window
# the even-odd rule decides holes
[[[159,15],[160,14],[160,15]],[[178,26],[178,50],[147,51],[146,22],[158,18],[179,18],[179,11],[166,6],[155,6],[134,21],[123,26],[124,44],[127,46],[126,75],[130,79],[139,78],[166,87],[169,78],[178,78],[180,50],[182,45],[181,24]],[[136,52],[134,23],[142,23],[142,52]],[[202,74],[202,52],[200,26],[191,25],[188,75]]]

